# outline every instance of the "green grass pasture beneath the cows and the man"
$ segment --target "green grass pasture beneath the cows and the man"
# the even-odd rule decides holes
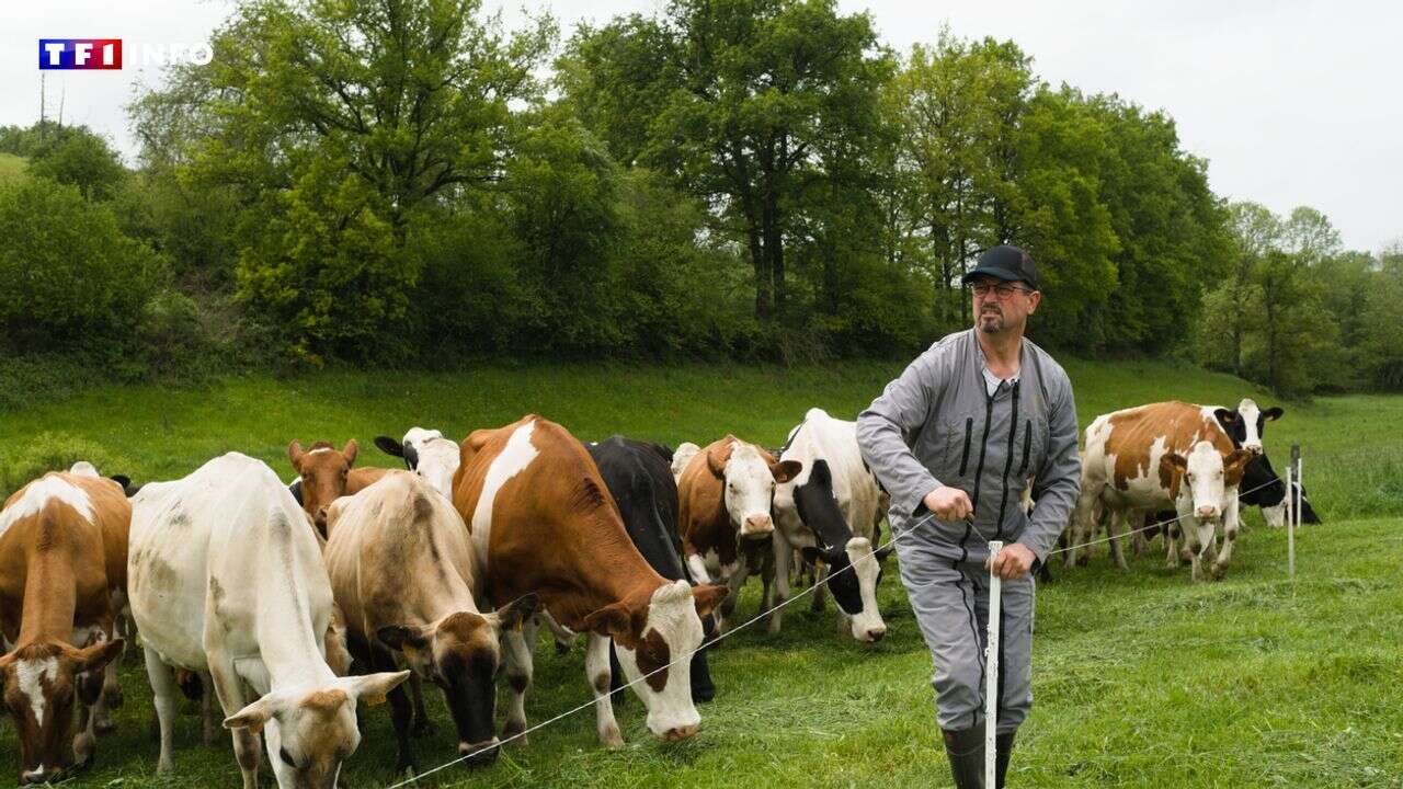
[[[724,432],[777,445],[805,409],[850,418],[901,369],[853,362],[779,369],[732,365],[549,365],[463,373],[325,372],[231,378],[203,389],[100,387],[0,414],[0,487],[87,456],[136,480],[182,476],[239,449],[282,476],[289,439],[356,438],[358,465],[389,463],[372,445],[419,424],[446,435],[537,411],[581,438],[624,432],[676,444]],[[1172,362],[1066,364],[1085,425],[1129,404],[1274,399],[1237,379]],[[1284,468],[1305,446],[1306,484],[1327,521],[1298,535],[1298,580],[1285,533],[1253,512],[1225,581],[1191,584],[1162,553],[1118,573],[1104,550],[1040,590],[1037,703],[1020,734],[1012,786],[1403,788],[1403,397],[1285,404],[1267,428]],[[1156,543],[1157,546],[1157,543]],[[755,612],[758,584],[741,602]],[[427,786],[948,786],[934,726],[930,661],[905,606],[895,562],[881,590],[890,632],[863,646],[833,614],[798,602],[784,633],[741,632],[713,653],[714,702],[702,731],[675,745],[648,736],[641,703],[616,703],[627,745],[602,751],[586,709],[509,747],[487,769],[450,768]],[[543,637],[544,640],[544,637]],[[528,701],[536,723],[589,699],[581,644],[537,649]],[[126,705],[98,741],[95,767],[70,786],[233,786],[227,734],[199,743],[195,706],[177,731],[175,774],[154,775],[157,745],[139,661],[122,667]],[[418,741],[428,768],[453,755],[438,731]],[[365,740],[342,772],[351,786],[391,783],[387,706],[362,708]],[[17,774],[13,726],[0,724],[0,771]],[[267,782],[269,772],[262,771]]]

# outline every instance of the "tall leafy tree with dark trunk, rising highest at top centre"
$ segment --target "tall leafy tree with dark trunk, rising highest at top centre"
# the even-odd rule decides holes
[[[749,254],[765,320],[786,306],[805,187],[871,143],[890,63],[871,20],[833,0],[673,0],[661,20],[582,27],[558,70],[616,160],[709,201]]]

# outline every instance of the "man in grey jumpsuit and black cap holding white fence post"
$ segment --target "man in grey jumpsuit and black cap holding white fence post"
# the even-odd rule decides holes
[[[901,578],[930,647],[936,717],[958,789],[984,788],[988,541],[1003,550],[998,783],[1033,706],[1033,578],[1076,504],[1080,462],[1072,383],[1023,337],[1037,268],[999,246],[964,277],[975,327],[951,334],[857,417],[857,444],[891,494]],[[1031,517],[1019,498],[1033,477]]]

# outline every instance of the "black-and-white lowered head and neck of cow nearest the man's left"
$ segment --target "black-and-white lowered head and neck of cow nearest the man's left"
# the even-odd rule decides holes
[[[833,601],[847,614],[852,635],[859,642],[880,642],[887,623],[877,611],[877,584],[881,581],[882,556],[873,555],[871,541],[854,538],[833,496],[833,476],[828,460],[817,459],[808,479],[794,486],[794,510],[814,532],[815,546],[801,549],[808,562],[828,564],[828,588]]]

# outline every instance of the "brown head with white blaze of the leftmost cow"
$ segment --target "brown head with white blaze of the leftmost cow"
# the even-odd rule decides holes
[[[20,738],[20,782],[58,781],[73,764],[93,755],[93,743],[73,743],[73,701],[97,703],[102,691],[102,668],[122,653],[122,639],[77,649],[60,642],[20,647],[0,657],[4,703]]]

